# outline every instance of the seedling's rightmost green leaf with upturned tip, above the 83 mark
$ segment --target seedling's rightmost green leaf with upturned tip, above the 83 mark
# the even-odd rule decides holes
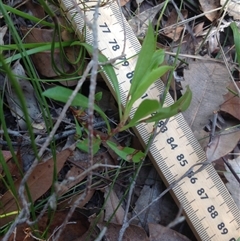
[[[189,86],[187,86],[187,90],[184,95],[180,99],[178,99],[173,105],[168,107],[161,107],[154,116],[144,121],[148,123],[155,122],[162,119],[170,118],[178,114],[179,112],[185,111],[189,107],[191,99],[192,91],[189,89]]]

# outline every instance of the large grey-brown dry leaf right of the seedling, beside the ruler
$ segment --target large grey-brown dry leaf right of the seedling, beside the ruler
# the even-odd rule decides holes
[[[184,72],[183,89],[189,85],[193,97],[189,108],[183,115],[192,131],[204,128],[211,119],[213,111],[223,103],[222,95],[227,92],[229,74],[224,65],[210,61],[196,60]]]

